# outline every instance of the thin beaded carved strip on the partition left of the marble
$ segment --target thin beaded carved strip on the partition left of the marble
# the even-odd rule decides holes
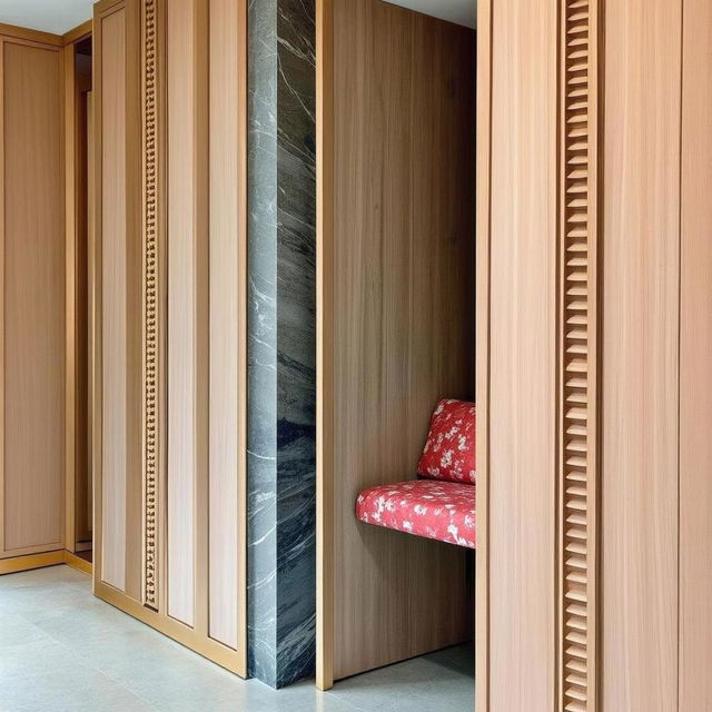
[[[159,211],[158,1],[144,0],[144,604],[158,610]]]

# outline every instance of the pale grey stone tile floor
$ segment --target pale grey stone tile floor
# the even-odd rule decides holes
[[[471,712],[472,646],[337,683],[244,681],[91,595],[68,566],[0,576],[0,712]]]

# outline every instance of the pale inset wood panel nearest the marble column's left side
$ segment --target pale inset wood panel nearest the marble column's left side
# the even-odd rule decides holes
[[[210,637],[238,645],[241,176],[239,7],[210,1]],[[241,38],[240,38],[241,39]]]

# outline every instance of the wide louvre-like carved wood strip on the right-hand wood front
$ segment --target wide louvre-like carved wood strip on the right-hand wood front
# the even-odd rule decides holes
[[[560,709],[596,709],[599,0],[561,0]]]

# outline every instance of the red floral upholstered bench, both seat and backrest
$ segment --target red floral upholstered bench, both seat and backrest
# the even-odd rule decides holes
[[[475,548],[475,405],[441,400],[418,479],[364,490],[356,516],[416,536]]]

